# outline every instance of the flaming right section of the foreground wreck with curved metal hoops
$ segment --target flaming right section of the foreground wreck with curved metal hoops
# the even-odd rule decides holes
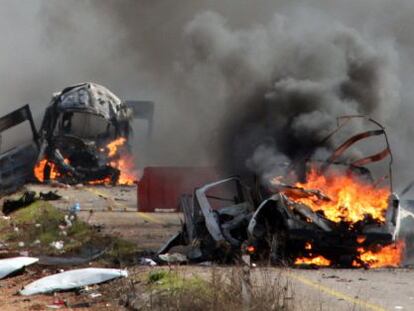
[[[249,242],[257,250],[255,255],[269,256],[275,264],[291,264],[299,257],[312,259],[321,255],[334,265],[364,266],[361,252],[396,242],[400,200],[392,189],[392,154],[388,138],[378,122],[366,117],[345,118],[339,129],[355,118],[368,121],[374,129],[345,140],[324,161],[305,158],[305,165],[300,167],[305,168],[303,175],[307,175],[310,182],[287,185],[276,181],[270,185],[273,194],[258,206],[248,227]],[[382,138],[384,149],[365,157],[358,152],[358,159],[343,160],[342,155],[348,149],[372,137]],[[378,142],[374,145],[378,147]],[[366,166],[385,161],[388,161],[385,174],[382,170],[379,177],[374,178]],[[313,174],[314,182],[309,174]],[[330,187],[335,183],[339,183],[339,187],[328,194],[323,187],[312,189],[321,179]],[[344,185],[340,185],[341,179]],[[350,190],[345,183],[352,183]],[[336,196],[337,193],[342,197]],[[337,201],[335,211],[329,210],[334,205],[331,200]],[[347,204],[351,208],[348,209]]]

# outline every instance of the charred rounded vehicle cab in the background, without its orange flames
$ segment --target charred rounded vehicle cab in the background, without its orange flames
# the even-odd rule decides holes
[[[133,118],[151,123],[152,116],[152,102],[123,102],[96,83],[65,88],[53,96],[40,128],[39,160],[50,160],[43,179],[50,179],[53,165],[61,172],[60,181],[68,184],[102,180],[116,184],[120,172],[101,151],[117,138],[129,139]]]

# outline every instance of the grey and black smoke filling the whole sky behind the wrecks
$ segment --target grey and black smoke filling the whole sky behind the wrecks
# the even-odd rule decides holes
[[[259,174],[312,148],[337,116],[369,114],[387,125],[395,179],[414,176],[414,133],[402,126],[413,115],[409,0],[2,6],[1,112],[30,102],[40,118],[53,91],[96,81],[156,102],[141,166]]]

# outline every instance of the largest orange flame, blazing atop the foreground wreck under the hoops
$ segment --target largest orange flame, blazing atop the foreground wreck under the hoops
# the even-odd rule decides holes
[[[309,206],[313,211],[322,211],[326,218],[334,222],[356,223],[366,215],[379,222],[385,221],[390,192],[386,188],[373,185],[348,175],[339,173],[324,176],[311,169],[306,183],[297,183],[305,190],[319,190],[330,200],[321,200],[316,195],[299,197],[286,191],[285,194],[296,203]]]

